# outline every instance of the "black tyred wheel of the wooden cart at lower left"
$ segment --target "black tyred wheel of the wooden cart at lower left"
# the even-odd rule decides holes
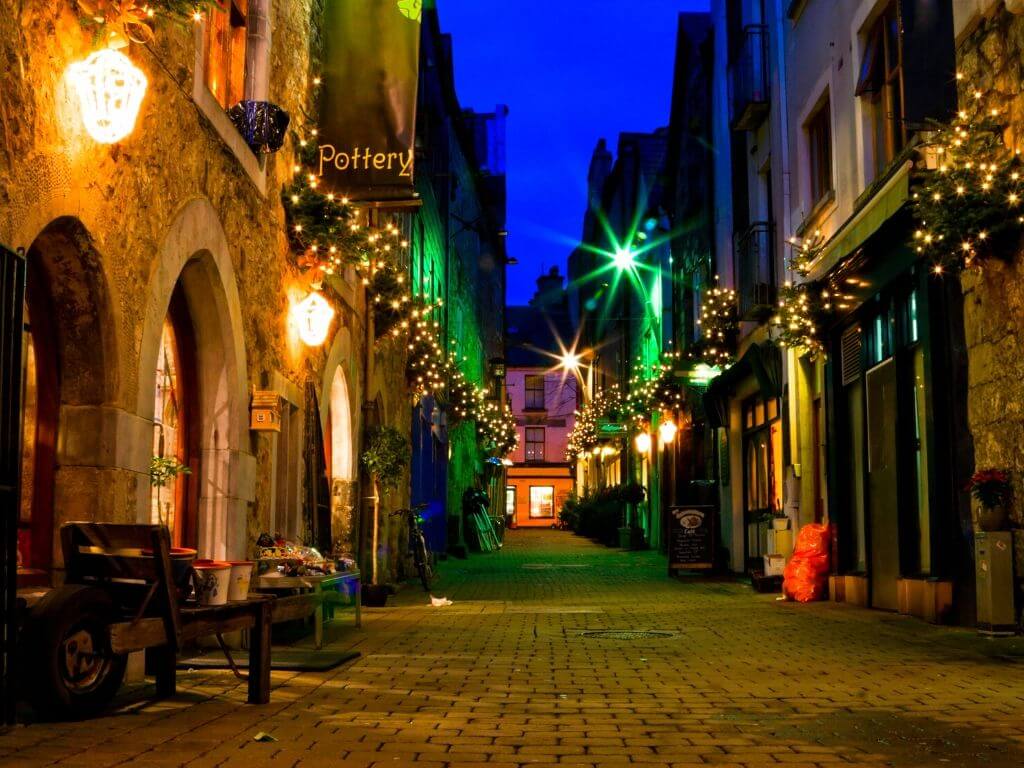
[[[127,663],[127,655],[111,650],[114,621],[110,596],[95,587],[61,587],[36,604],[23,658],[26,696],[40,716],[88,718],[111,702]]]

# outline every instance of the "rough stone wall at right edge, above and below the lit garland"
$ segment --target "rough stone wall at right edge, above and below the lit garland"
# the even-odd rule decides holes
[[[985,109],[1009,114],[1007,142],[1024,141],[1024,16],[1001,4],[961,42],[964,76],[961,105],[975,109],[970,90],[986,94]],[[1016,496],[1024,499],[1024,261],[986,262],[961,278],[969,354],[968,418],[978,468],[1013,471]],[[1021,506],[1016,505],[1020,515]]]

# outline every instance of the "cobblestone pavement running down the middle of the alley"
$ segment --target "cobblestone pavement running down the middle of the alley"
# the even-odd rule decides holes
[[[1024,765],[1016,641],[672,581],[653,553],[556,531],[441,570],[454,605],[410,587],[339,631],[358,660],[275,672],[266,707],[228,673],[182,673],[170,701],[13,729],[0,765]]]

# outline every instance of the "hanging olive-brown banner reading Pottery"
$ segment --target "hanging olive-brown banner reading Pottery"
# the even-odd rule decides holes
[[[327,3],[316,172],[353,201],[413,196],[422,0]]]

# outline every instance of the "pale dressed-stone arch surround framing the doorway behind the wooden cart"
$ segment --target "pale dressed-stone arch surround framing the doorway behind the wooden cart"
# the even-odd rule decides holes
[[[136,414],[154,421],[157,356],[176,288],[195,332],[200,472],[198,546],[206,557],[241,559],[248,550],[255,464],[242,309],[223,228],[207,200],[185,204],[164,237],[150,275],[139,350]],[[151,516],[140,499],[137,519]]]

